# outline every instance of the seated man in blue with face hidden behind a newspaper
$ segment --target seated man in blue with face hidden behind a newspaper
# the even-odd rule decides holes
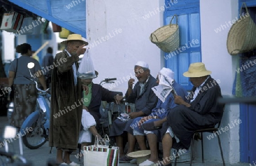
[[[146,131],[141,127],[141,124],[153,122],[159,119],[163,119],[167,116],[168,111],[171,111],[177,104],[174,103],[174,94],[179,95],[185,100],[185,96],[188,95],[187,91],[181,87],[174,80],[174,72],[170,69],[163,67],[158,73],[157,82],[159,85],[153,87],[152,90],[158,96],[158,104],[150,116],[135,118],[133,123],[130,125],[133,129],[133,135],[135,135],[139,147],[141,149],[146,148],[144,142],[144,135],[147,135],[148,145],[150,146],[150,158],[139,164],[139,166],[150,166],[158,161],[158,130]]]

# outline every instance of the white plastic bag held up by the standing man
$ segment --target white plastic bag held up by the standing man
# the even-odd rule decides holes
[[[93,67],[92,58],[90,58],[89,49],[86,49],[84,57],[82,57],[79,69],[77,70],[77,77],[81,79],[92,79],[97,77]]]

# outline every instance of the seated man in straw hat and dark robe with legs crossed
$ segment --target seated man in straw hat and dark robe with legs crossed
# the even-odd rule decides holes
[[[183,73],[193,84],[189,102],[181,96],[174,96],[179,104],[168,112],[167,117],[159,121],[142,124],[144,130],[160,129],[163,144],[162,165],[171,165],[171,148],[188,150],[195,130],[214,127],[220,122],[224,105],[217,103],[221,96],[220,86],[210,76],[212,72],[205,69],[204,63],[192,63],[187,72]],[[174,156],[175,157],[175,156]]]

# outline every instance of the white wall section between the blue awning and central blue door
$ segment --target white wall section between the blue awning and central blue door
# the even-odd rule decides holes
[[[163,12],[155,12],[150,18],[143,19],[156,7],[159,7],[159,1],[86,1],[86,35],[94,68],[99,72],[98,78],[93,80],[95,83],[116,77],[118,86],[111,90],[125,93],[127,78],[134,76],[137,61],[147,62],[151,74],[157,75],[160,49],[151,43],[149,37],[162,25]],[[105,36],[109,39],[103,41]]]

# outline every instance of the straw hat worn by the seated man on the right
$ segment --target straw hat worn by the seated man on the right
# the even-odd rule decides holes
[[[196,62],[196,63],[191,63],[188,71],[183,73],[185,77],[200,77],[200,76],[205,76],[205,75],[210,75],[212,71],[209,71],[205,68],[204,63],[202,62]]]

